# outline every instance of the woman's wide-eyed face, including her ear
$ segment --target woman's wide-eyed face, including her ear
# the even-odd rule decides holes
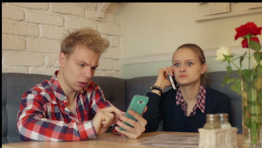
[[[180,86],[200,84],[201,72],[206,64],[201,64],[197,53],[190,48],[180,48],[173,55],[175,79]]]

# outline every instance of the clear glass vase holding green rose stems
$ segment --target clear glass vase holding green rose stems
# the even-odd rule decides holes
[[[241,80],[243,145],[262,146],[262,77]]]

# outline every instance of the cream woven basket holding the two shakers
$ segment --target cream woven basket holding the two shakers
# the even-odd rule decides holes
[[[200,128],[199,148],[237,148],[236,132],[238,129],[213,129]]]

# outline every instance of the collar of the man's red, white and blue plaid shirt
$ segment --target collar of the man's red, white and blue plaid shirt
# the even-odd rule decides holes
[[[57,80],[57,74],[58,74],[59,70],[54,72],[54,75],[51,77],[50,80],[50,86],[54,91],[55,97],[58,98],[59,103],[61,103],[62,101],[64,101],[66,99],[66,95],[63,92],[58,80]],[[93,84],[93,82],[90,80],[89,84]],[[87,87],[83,88],[81,91],[78,91],[76,96],[79,95],[79,93],[85,93],[87,90]],[[54,100],[55,101],[55,100]]]

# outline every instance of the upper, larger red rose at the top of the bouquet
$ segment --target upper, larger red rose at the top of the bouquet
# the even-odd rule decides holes
[[[254,24],[253,22],[252,23],[248,22],[245,25],[241,25],[240,27],[235,29],[236,30],[235,40],[247,34],[261,35],[261,29],[262,27],[256,27],[256,24]]]

